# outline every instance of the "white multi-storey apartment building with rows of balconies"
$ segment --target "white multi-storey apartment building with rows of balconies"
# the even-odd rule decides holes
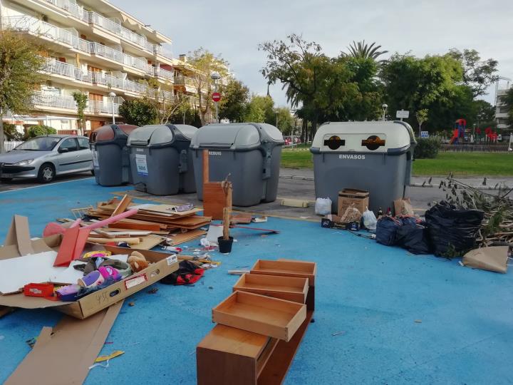
[[[120,118],[120,104],[147,94],[150,78],[167,101],[175,97],[175,82],[192,93],[190,79],[174,66],[180,61],[166,51],[172,40],[108,1],[0,0],[0,16],[4,28],[48,47],[41,53],[47,81],[31,100],[30,116],[9,118],[16,125],[76,132],[75,91],[88,96],[86,131]]]

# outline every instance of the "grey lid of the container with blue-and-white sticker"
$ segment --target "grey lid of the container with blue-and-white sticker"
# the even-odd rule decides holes
[[[128,136],[128,145],[165,146],[175,140],[190,141],[197,128],[186,124],[143,125]]]

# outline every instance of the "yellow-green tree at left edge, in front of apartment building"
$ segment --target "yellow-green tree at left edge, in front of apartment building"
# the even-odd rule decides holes
[[[4,114],[29,111],[31,96],[43,81],[41,50],[32,39],[9,29],[0,31],[0,153],[5,152]]]

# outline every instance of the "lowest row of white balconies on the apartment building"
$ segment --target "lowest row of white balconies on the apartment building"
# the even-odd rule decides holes
[[[119,107],[121,105],[119,102],[122,100],[122,98],[118,98],[118,103],[88,101],[85,113],[89,115],[109,115],[113,113],[114,108],[114,114],[118,115]],[[57,93],[34,93],[31,97],[31,105],[35,109],[45,110],[47,108],[51,108],[55,110],[66,110],[65,112],[67,113],[77,113],[77,106],[73,96],[63,96]]]

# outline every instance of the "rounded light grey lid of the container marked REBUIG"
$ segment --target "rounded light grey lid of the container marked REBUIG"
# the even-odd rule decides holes
[[[261,143],[284,143],[274,125],[265,123],[209,124],[197,130],[191,140],[192,148],[221,147],[231,150],[257,148]]]

